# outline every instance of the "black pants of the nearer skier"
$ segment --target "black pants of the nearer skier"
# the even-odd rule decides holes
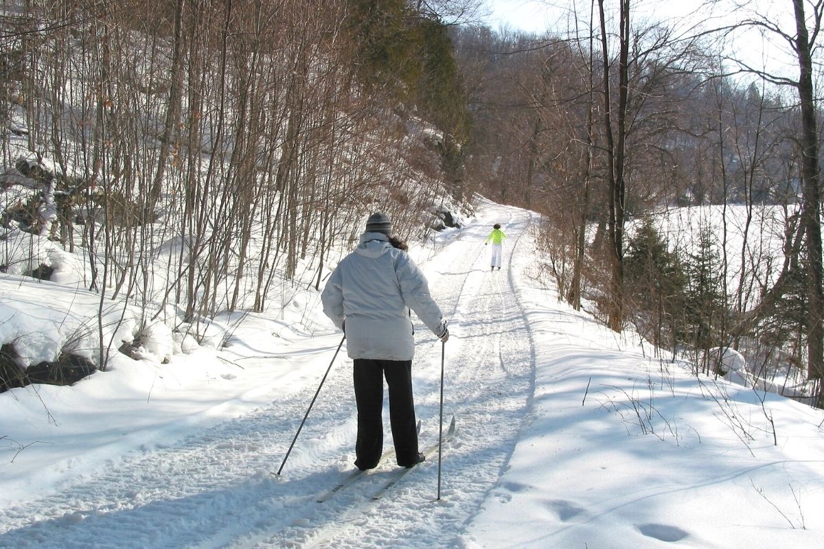
[[[418,430],[412,397],[412,361],[356,358],[353,366],[358,402],[355,467],[371,469],[383,452],[383,379],[389,387],[389,420],[398,465],[418,463]]]

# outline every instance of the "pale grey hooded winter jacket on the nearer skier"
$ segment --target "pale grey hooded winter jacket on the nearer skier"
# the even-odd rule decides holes
[[[409,254],[382,233],[363,233],[358,247],[332,272],[321,294],[323,312],[344,328],[349,358],[411,361],[410,309],[441,336],[441,309]]]

